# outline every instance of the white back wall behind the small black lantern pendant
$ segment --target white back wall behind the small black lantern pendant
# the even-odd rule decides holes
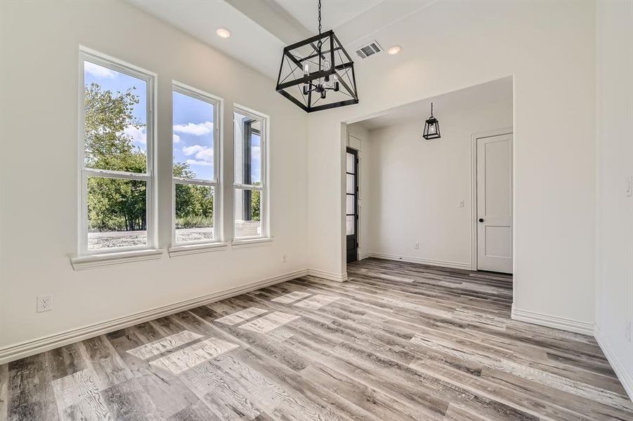
[[[470,269],[471,135],[511,127],[512,98],[435,114],[441,139],[422,138],[426,116],[370,131],[363,173],[371,200],[361,234],[372,254]]]

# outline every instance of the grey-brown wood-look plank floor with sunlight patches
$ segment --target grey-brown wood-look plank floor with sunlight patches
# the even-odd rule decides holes
[[[0,366],[8,420],[633,420],[594,338],[512,321],[511,277],[386,260]]]

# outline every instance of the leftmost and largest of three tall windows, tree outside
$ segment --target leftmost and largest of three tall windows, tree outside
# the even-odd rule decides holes
[[[87,52],[81,63],[80,253],[154,248],[154,76]]]

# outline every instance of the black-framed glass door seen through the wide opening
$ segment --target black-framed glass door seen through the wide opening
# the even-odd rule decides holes
[[[347,262],[353,262],[358,255],[358,151],[347,148],[345,225]]]

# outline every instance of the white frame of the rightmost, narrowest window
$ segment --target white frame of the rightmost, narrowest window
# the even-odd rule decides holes
[[[268,186],[268,138],[270,133],[270,117],[261,112],[256,112],[254,109],[249,109],[243,105],[233,104],[233,121],[235,124],[235,114],[247,116],[251,119],[257,120],[260,123],[261,129],[259,133],[259,145],[261,150],[261,185],[248,185],[244,183],[235,182],[235,134],[233,135],[233,242],[234,243],[248,243],[250,241],[258,241],[262,239],[272,239],[270,235],[270,215],[269,215],[269,186]],[[243,159],[243,156],[242,156]],[[240,236],[238,237],[235,222],[238,220],[238,215],[235,214],[235,195],[237,192],[243,192],[244,190],[258,190],[259,196],[259,214],[261,222],[261,234],[256,236]],[[240,215],[241,216],[241,215]]]

